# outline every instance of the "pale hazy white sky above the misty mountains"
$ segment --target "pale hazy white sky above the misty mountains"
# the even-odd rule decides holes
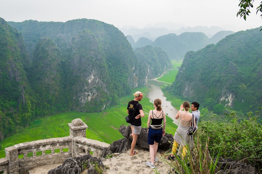
[[[255,2],[247,21],[236,16],[239,0],[1,0],[0,17],[14,22],[87,18],[139,28],[168,21],[191,27],[231,24],[245,30],[262,25],[256,15],[261,1]]]

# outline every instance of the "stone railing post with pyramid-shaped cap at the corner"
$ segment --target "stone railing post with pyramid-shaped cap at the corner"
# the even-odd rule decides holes
[[[74,142],[74,137],[77,136],[83,136],[86,138],[86,129],[87,124],[84,123],[81,119],[77,118],[71,121],[71,123],[68,123],[68,126],[70,127],[70,136],[72,138],[72,157],[77,157],[77,149]]]

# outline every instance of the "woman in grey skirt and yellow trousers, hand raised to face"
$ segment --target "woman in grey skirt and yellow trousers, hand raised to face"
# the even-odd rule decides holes
[[[180,119],[180,123],[174,135],[172,152],[169,156],[170,160],[174,160],[174,154],[176,153],[179,145],[183,146],[182,157],[185,157],[187,155],[187,146],[189,145],[190,147],[192,147],[192,136],[188,136],[187,134],[190,128],[190,123],[192,121],[192,114],[188,112],[189,107],[190,103],[188,101],[185,101],[183,104],[181,104],[180,110],[175,115],[175,119]],[[183,109],[184,111],[182,111]]]

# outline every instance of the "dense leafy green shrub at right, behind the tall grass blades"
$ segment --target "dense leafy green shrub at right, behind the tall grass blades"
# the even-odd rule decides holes
[[[227,116],[230,115],[236,117],[234,112]],[[248,119],[243,121],[232,118],[231,123],[201,122],[198,124],[198,135],[201,140],[209,137],[209,151],[218,154],[222,150],[221,156],[223,158],[231,157],[233,160],[243,160],[257,170],[261,170],[261,125],[257,120],[258,115],[253,116],[252,112],[248,112],[247,116]],[[204,144],[205,142],[201,142],[202,146]]]

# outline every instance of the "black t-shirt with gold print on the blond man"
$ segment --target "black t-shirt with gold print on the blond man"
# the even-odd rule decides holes
[[[132,114],[135,110],[135,108],[134,108],[135,105],[136,105],[136,112],[135,112],[134,116],[132,117]],[[138,101],[131,100],[130,102],[128,102],[127,109],[129,110],[129,117],[130,118],[132,117],[132,121],[131,121],[130,124],[132,124],[134,126],[141,126],[142,125],[141,117],[139,119],[135,119],[135,117],[140,114],[139,110],[143,110],[142,105],[140,103],[138,103]]]

